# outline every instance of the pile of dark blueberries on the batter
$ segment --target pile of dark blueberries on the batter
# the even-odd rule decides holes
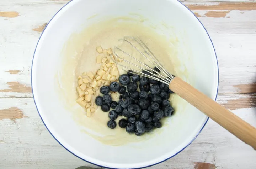
[[[154,70],[159,72],[156,67]],[[142,72],[151,75],[147,71]],[[124,116],[126,118],[119,120],[118,125],[126,128],[126,132],[140,136],[144,132],[153,130],[154,127],[160,128],[162,126],[160,120],[174,113],[168,100],[173,92],[167,84],[140,77],[133,74],[131,70],[119,77],[119,83],[112,82],[110,86],[102,86],[100,92],[103,97],[97,96],[95,99],[95,104],[101,106],[102,111],[108,112],[110,108],[114,109],[108,113],[109,128],[114,129],[117,125],[114,120],[118,116]],[[140,92],[137,91],[138,84]],[[121,94],[118,103],[112,101],[111,95],[108,94],[110,91]]]

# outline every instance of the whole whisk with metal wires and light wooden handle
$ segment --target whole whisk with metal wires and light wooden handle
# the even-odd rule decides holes
[[[145,43],[139,38],[129,36],[124,37],[122,40],[127,43],[128,46],[132,47],[134,51],[138,52],[139,55],[143,56],[145,61],[158,68],[158,70],[152,69],[150,66],[145,64],[145,62],[141,61],[141,59],[136,58],[133,54],[129,54],[119,47],[115,47],[113,49],[113,56],[119,58],[119,60],[121,59],[123,62],[116,62],[115,58],[113,58],[116,64],[127,68],[128,70],[132,70],[134,74],[148,77],[169,85],[169,89],[171,91],[185,99],[188,103],[202,111],[220,126],[224,127],[230,133],[234,134],[237,138],[256,150],[256,129],[254,127],[192,87],[187,82],[183,81],[181,78],[170,74],[158,61],[157,57],[145,45]],[[127,59],[120,57],[118,52],[124,54],[126,56],[124,58],[128,57],[132,59],[132,61],[128,61]],[[128,63],[131,67],[122,63]],[[138,68],[138,70],[135,68]],[[154,74],[152,74],[152,72]]]

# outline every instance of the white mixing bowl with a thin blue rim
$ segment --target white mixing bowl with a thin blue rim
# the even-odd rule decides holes
[[[168,125],[149,140],[122,146],[110,146],[81,132],[72,114],[65,109],[55,91],[61,51],[69,36],[101,16],[138,16],[151,24],[171,25],[172,32],[183,41],[179,59],[188,70],[188,81],[216,99],[218,63],[212,41],[201,22],[177,0],[73,0],[59,10],[44,29],[32,63],[34,101],[52,136],[75,156],[108,168],[140,168],[158,164],[186,148],[201,132],[208,117],[189,104],[177,111]],[[97,14],[97,17],[87,18]],[[163,30],[168,33],[170,29]]]

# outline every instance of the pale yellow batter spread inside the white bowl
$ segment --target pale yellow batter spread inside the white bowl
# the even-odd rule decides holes
[[[104,49],[108,49],[120,45],[119,39],[124,36],[135,36],[143,40],[171,74],[181,76],[185,73],[184,71],[175,70],[175,67],[180,65],[175,48],[176,43],[178,43],[176,37],[166,39],[164,35],[155,33],[154,28],[146,27],[133,19],[116,18],[96,23],[70,36],[63,48],[62,71],[57,75],[60,98],[63,100],[66,109],[73,113],[74,120],[83,127],[83,133],[104,144],[113,146],[149,139],[161,132],[160,128],[154,129],[153,132],[146,133],[141,137],[128,134],[125,129],[118,126],[118,121],[121,117],[116,120],[117,127],[110,129],[107,127],[108,113],[101,111],[99,107],[92,113],[91,117],[87,117],[85,110],[75,101],[78,98],[75,90],[77,77],[83,72],[96,71],[101,66],[101,64],[96,64],[98,53],[95,48],[101,46]],[[127,52],[131,50],[128,45],[121,45],[121,47]],[[137,57],[141,56],[137,55]],[[124,70],[121,67],[118,68],[119,74],[123,74]],[[170,100],[172,106],[177,109],[177,103],[180,98],[174,94]],[[162,120],[163,127],[167,125],[165,121]]]

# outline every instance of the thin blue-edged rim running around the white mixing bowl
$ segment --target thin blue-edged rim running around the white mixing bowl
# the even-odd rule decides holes
[[[66,3],[62,8],[64,8],[66,5],[68,5],[68,4],[69,4],[70,2],[72,2],[72,1],[73,1],[73,0],[69,1],[68,3]],[[177,0],[177,1],[178,1],[178,0]],[[180,1],[178,1],[178,2],[180,2]],[[182,4],[182,2],[180,2],[180,3]],[[182,4],[182,5],[185,6],[184,4]],[[185,6],[185,7],[196,17],[196,15],[195,15],[187,6]],[[62,10],[62,8],[60,8],[60,10]],[[60,10],[59,10],[59,11],[60,11]],[[52,19],[56,16],[56,14],[59,13],[59,11],[54,14],[54,16],[53,16],[53,17],[50,19],[50,21],[48,22],[48,24],[52,21]],[[196,17],[196,18],[197,18],[197,17]],[[204,25],[202,24],[202,22],[201,22],[198,18],[197,18],[197,20],[198,20],[198,21],[201,23],[201,25],[203,26],[203,28],[204,28],[204,30],[206,31],[206,33],[207,33],[207,35],[208,35],[208,37],[209,37],[209,39],[210,39],[210,42],[212,43],[212,46],[213,46],[212,39],[210,38],[210,36],[209,36],[209,34],[208,34],[206,28],[204,27]],[[48,26],[48,24],[46,25],[46,27]],[[46,27],[44,28],[44,30],[46,29]],[[42,34],[44,33],[44,30],[42,31]],[[38,39],[37,45],[38,45],[38,43],[39,43],[39,41],[40,41],[40,39],[41,39],[42,34],[40,35],[40,37],[39,37],[39,39]],[[35,55],[35,53],[36,53],[37,45],[36,45],[36,48],[35,48],[35,51],[34,51],[34,54],[33,54],[32,66],[31,66],[31,87],[32,87],[33,99],[34,99],[34,93],[33,93],[33,84],[32,84],[32,70],[33,70],[33,61],[34,61],[34,55]],[[215,101],[216,101],[217,94],[218,94],[218,89],[219,89],[219,64],[218,64],[218,59],[217,59],[217,55],[216,55],[216,51],[215,51],[214,46],[213,46],[213,49],[214,49],[214,53],[215,53],[215,57],[216,57],[216,61],[217,61],[217,70],[218,70],[218,86],[217,86],[217,93],[216,93],[216,96],[215,96]],[[34,99],[34,103],[35,103],[35,105],[36,105],[36,100],[35,100],[35,99]],[[37,105],[36,105],[36,109],[37,109]],[[43,121],[43,119],[42,119],[42,117],[41,117],[41,115],[40,115],[38,109],[37,109],[37,112],[38,112],[38,114],[39,114],[39,116],[40,116],[42,122],[44,123],[44,121]],[[148,166],[145,166],[145,167],[139,167],[139,168],[151,167],[151,166],[153,166],[153,165],[162,163],[162,162],[164,162],[164,161],[166,161],[166,160],[168,160],[168,159],[170,159],[170,158],[176,156],[178,153],[180,153],[180,152],[183,151],[185,148],[187,148],[187,146],[189,146],[189,145],[194,141],[194,139],[197,138],[197,136],[201,133],[201,131],[203,130],[203,128],[204,128],[204,126],[206,125],[206,123],[207,123],[208,120],[209,120],[209,117],[207,118],[206,122],[204,123],[204,125],[203,125],[203,127],[200,129],[200,131],[197,133],[197,135],[196,135],[184,148],[182,148],[180,151],[178,151],[175,155],[172,155],[171,157],[166,158],[166,159],[164,159],[164,160],[162,160],[162,161],[160,161],[160,162],[158,162],[158,163],[151,164],[151,165],[148,165]],[[44,123],[44,126],[47,128],[47,126],[46,126],[45,123]],[[70,152],[70,153],[73,154],[74,156],[76,156],[76,157],[78,157],[78,158],[80,158],[80,159],[82,159],[82,160],[84,160],[84,161],[86,161],[86,162],[88,162],[88,163],[97,165],[97,166],[99,166],[99,167],[110,168],[110,167],[105,167],[105,166],[102,166],[102,165],[98,165],[98,164],[89,162],[89,161],[87,161],[87,160],[85,160],[85,159],[83,159],[83,158],[81,158],[81,157],[75,155],[73,152],[71,152],[71,151],[68,150],[65,146],[63,146],[63,145],[54,137],[54,135],[50,132],[50,130],[49,130],[48,128],[47,128],[47,130],[49,131],[49,133],[53,136],[53,138],[54,138],[62,147],[64,147],[68,152]],[[133,169],[139,169],[139,168],[133,168]],[[111,169],[112,169],[112,168],[111,168]]]

